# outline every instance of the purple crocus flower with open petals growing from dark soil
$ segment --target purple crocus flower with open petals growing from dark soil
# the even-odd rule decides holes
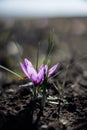
[[[20,63],[21,68],[25,75],[34,83],[40,84],[44,79],[45,76],[48,78],[55,72],[58,67],[58,64],[54,65],[51,69],[48,70],[47,65],[41,65],[38,71],[34,69],[34,66],[28,59],[24,59],[24,63]]]

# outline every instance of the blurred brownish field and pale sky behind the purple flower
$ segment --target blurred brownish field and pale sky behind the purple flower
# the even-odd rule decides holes
[[[35,65],[38,43],[42,64],[50,32],[51,65],[87,54],[87,1],[1,0],[0,65],[22,75],[20,62],[26,57]],[[0,69],[0,83],[12,79],[17,77]]]

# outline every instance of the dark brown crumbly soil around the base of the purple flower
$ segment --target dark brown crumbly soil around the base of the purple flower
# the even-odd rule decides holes
[[[85,61],[82,62],[85,64]],[[61,85],[66,75],[64,99],[49,83],[47,100],[42,112],[41,98],[33,100],[32,86],[27,81],[4,84],[0,90],[0,130],[87,130],[87,77],[83,66],[73,64],[68,70],[60,65]]]

